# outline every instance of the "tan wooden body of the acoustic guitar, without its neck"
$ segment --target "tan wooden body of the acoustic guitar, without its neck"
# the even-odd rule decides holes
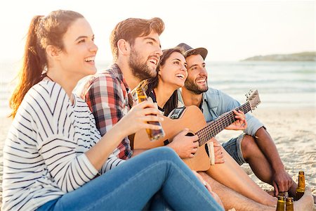
[[[137,132],[134,136],[133,148],[134,149],[150,149],[159,146],[165,146],[169,141],[173,139],[183,129],[188,128],[189,133],[195,134],[200,129],[206,127],[207,123],[204,119],[204,115],[197,108],[197,106],[188,106],[183,108],[183,113],[178,119],[171,119],[164,117],[162,122],[162,128],[166,136],[150,141],[147,136],[146,130],[142,129]],[[206,171],[209,170],[210,160],[209,155],[206,153],[205,143],[197,148],[194,158],[183,158],[183,161],[190,167],[191,170],[195,171]]]

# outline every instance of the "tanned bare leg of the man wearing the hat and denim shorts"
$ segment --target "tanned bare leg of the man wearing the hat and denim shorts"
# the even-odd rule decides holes
[[[261,152],[252,136],[244,136],[242,139],[242,155],[244,160],[249,163],[251,170],[256,177],[265,183],[272,184],[273,172],[265,155]],[[289,189],[289,196],[295,196],[297,184],[292,180],[293,185]]]

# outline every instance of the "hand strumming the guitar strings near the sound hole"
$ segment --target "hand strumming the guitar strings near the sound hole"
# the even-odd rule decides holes
[[[173,141],[167,146],[173,148],[180,158],[194,158],[199,146],[199,136],[185,136],[189,129],[183,129],[182,132],[174,136]]]

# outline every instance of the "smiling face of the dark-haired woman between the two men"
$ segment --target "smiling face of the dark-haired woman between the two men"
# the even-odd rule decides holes
[[[174,90],[183,87],[187,78],[187,63],[179,52],[173,52],[159,67],[159,84],[171,84]]]

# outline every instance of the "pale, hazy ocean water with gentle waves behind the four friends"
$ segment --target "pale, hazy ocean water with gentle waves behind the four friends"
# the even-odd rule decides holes
[[[110,63],[97,63],[98,70]],[[18,62],[0,63],[0,117],[10,112],[8,98],[14,87]],[[262,107],[306,108],[316,106],[316,62],[207,62],[209,87],[246,102],[245,94],[258,90]]]

